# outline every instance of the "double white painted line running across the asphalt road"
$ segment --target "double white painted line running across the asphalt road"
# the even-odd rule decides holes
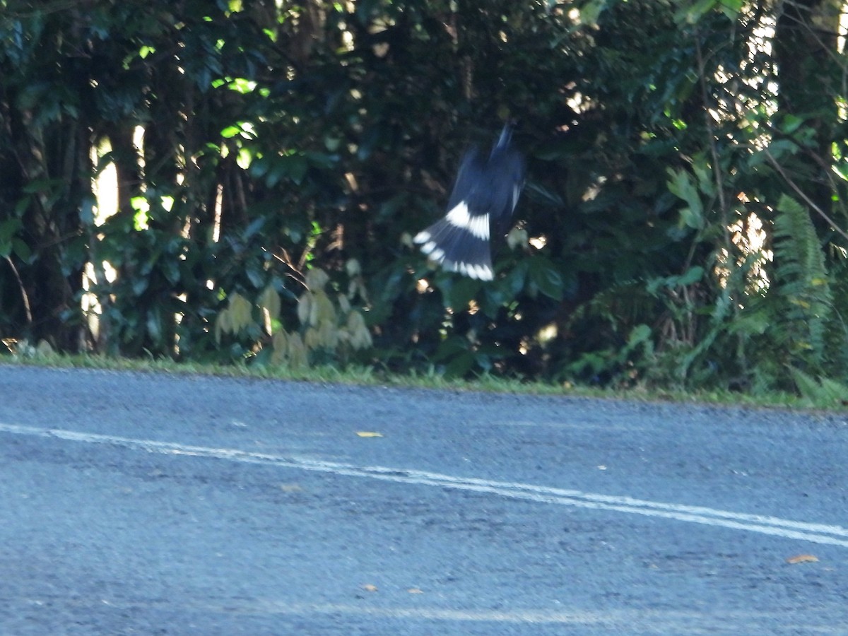
[[[510,499],[538,501],[545,504],[572,505],[594,510],[613,510],[633,515],[655,516],[706,526],[728,527],[752,533],[795,538],[815,544],[848,548],[848,528],[823,523],[795,522],[775,516],[750,515],[729,510],[716,510],[695,505],[665,504],[609,494],[583,493],[579,490],[550,488],[529,483],[496,482],[474,477],[453,477],[438,472],[416,471],[386,466],[354,466],[332,461],[309,460],[284,455],[253,453],[239,449],[215,449],[151,439],[123,438],[98,433],[67,431],[55,428],[23,427],[0,423],[0,432],[41,438],[58,438],[86,444],[109,444],[126,449],[145,450],[161,455],[188,455],[246,464],[284,466],[304,471],[328,472],[346,477],[367,477],[385,482],[414,483],[438,488],[453,488],[478,493],[497,494]]]

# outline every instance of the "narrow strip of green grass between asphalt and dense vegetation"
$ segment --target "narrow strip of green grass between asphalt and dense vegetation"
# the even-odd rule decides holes
[[[643,402],[678,402],[687,404],[721,404],[726,406],[772,407],[801,410],[848,411],[848,395],[792,393],[750,394],[731,391],[662,390],[636,386],[627,389],[594,388],[555,384],[552,382],[523,382],[491,375],[472,380],[450,379],[431,373],[390,374],[370,367],[349,366],[340,370],[333,366],[289,368],[284,366],[213,365],[174,360],[137,360],[102,355],[64,355],[30,349],[27,354],[0,355],[0,365],[33,365],[65,369],[99,369],[105,371],[137,371],[173,374],[198,374],[218,377],[241,377],[294,382],[320,382],[371,387],[421,388],[446,391],[477,391],[525,395],[558,395],[568,397],[631,399]],[[845,399],[843,399],[843,397]]]

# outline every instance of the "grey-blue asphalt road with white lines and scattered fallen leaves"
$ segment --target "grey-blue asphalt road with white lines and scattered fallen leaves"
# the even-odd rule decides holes
[[[848,633],[845,415],[0,366],[0,505],[3,635]]]

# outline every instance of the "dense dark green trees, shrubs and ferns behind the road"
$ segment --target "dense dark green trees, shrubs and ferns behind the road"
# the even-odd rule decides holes
[[[0,0],[0,337],[844,398],[842,10]],[[432,271],[507,117],[495,280]]]

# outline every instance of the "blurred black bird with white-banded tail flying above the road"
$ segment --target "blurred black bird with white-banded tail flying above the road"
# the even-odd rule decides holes
[[[504,126],[488,159],[478,148],[466,153],[448,214],[413,239],[446,270],[481,281],[494,277],[489,238],[506,234],[524,185],[524,158],[510,147],[512,126]]]

